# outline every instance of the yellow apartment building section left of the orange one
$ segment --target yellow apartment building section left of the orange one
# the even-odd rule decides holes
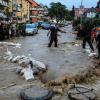
[[[9,0],[9,19],[23,23],[30,20],[32,0]]]

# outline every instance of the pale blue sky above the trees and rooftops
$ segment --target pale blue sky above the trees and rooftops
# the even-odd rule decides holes
[[[81,4],[81,0],[35,0],[35,1],[38,3],[48,5],[48,6],[51,2],[60,1],[62,4],[66,5],[68,9],[71,9],[73,5],[75,7],[79,7],[79,5]],[[83,5],[85,7],[95,7],[97,4],[97,1],[99,0],[83,0]]]

